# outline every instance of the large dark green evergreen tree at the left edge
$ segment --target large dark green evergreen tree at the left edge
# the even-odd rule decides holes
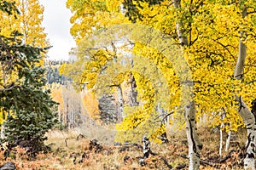
[[[13,14],[15,10],[1,2],[0,9]],[[46,48],[32,47],[23,39],[17,31],[0,36],[0,108],[7,115],[1,140],[34,154],[44,149],[44,134],[57,121],[56,103],[45,89],[45,69],[39,64]]]

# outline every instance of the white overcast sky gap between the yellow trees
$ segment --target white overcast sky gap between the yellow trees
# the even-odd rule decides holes
[[[71,24],[69,19],[71,12],[66,8],[66,0],[39,0],[44,6],[43,26],[45,33],[49,39],[49,59],[64,59],[69,58],[68,52],[75,47],[73,37],[69,30]]]

